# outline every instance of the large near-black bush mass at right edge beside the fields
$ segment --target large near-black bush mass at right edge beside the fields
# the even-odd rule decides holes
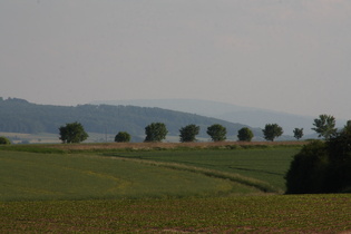
[[[285,175],[287,194],[350,193],[351,129],[312,142],[294,156]]]

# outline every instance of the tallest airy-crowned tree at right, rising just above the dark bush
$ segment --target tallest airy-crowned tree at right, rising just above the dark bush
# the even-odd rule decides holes
[[[312,130],[319,134],[319,137],[329,139],[337,134],[335,118],[333,116],[320,115],[319,118],[314,119]]]

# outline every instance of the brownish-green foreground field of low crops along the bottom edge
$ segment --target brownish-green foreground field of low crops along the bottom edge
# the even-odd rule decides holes
[[[0,232],[350,233],[350,195],[0,203]]]

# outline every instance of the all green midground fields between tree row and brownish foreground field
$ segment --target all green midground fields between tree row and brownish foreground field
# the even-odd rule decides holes
[[[139,148],[110,148],[119,144],[1,147],[8,150],[0,155],[0,199],[283,193],[284,173],[292,155],[299,150],[299,147],[262,146],[257,149],[204,149],[222,148],[218,144],[159,150],[154,144],[131,145]],[[175,145],[178,146],[165,144],[166,147]]]

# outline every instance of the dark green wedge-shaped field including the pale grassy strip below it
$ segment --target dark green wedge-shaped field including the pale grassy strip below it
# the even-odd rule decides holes
[[[163,166],[188,169],[211,176],[237,179],[240,183],[256,186],[269,193],[285,191],[284,174],[289,169],[292,156],[299,148],[274,149],[206,149],[206,150],[163,150],[105,153],[105,156],[118,156],[125,159],[143,159],[164,163]],[[237,176],[238,175],[238,176]],[[263,183],[262,183],[263,182]]]

